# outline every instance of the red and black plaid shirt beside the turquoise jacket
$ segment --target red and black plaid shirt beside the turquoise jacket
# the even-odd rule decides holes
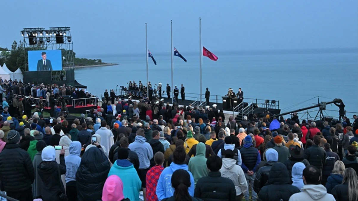
[[[147,176],[145,177],[147,201],[158,201],[155,191],[159,176],[163,170],[163,166],[156,165],[147,172]]]

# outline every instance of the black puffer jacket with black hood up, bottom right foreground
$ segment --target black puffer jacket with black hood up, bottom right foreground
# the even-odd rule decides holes
[[[301,192],[291,185],[289,171],[283,163],[275,163],[270,170],[269,182],[258,193],[258,201],[288,201],[291,195]]]

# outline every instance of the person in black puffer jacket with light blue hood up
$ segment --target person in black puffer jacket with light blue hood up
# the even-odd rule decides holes
[[[279,153],[275,149],[267,149],[265,152],[266,163],[264,166],[260,167],[256,172],[255,181],[253,182],[253,190],[258,193],[263,186],[269,181],[269,174],[272,166],[279,159]]]

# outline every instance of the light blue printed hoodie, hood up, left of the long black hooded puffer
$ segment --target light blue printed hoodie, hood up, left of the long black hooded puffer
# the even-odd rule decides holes
[[[66,163],[66,183],[69,181],[76,181],[76,172],[81,163],[81,143],[78,141],[73,141],[69,145],[69,155],[65,157]]]

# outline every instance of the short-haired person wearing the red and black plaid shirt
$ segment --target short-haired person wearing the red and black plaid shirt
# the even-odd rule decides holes
[[[159,176],[163,172],[164,167],[164,154],[157,152],[154,155],[155,166],[150,168],[145,177],[146,182],[146,201],[157,201],[158,197],[156,196],[156,186],[158,184]]]

